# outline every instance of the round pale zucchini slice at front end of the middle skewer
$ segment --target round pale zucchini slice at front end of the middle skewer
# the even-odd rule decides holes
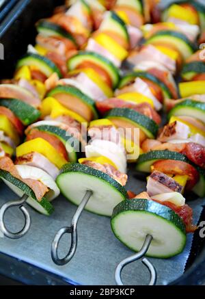
[[[125,188],[108,174],[78,163],[63,166],[57,185],[75,205],[81,203],[87,190],[92,191],[85,209],[102,216],[111,216],[113,207],[127,196]]]

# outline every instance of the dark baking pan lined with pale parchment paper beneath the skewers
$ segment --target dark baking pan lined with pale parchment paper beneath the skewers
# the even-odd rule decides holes
[[[61,5],[64,1],[54,0],[24,0],[18,1],[16,5],[12,7],[10,13],[3,18],[0,25],[0,42],[4,46],[5,60],[0,60],[0,77],[12,77],[16,60],[18,57],[23,55],[27,50],[27,44],[33,43],[36,36],[36,30],[34,24],[38,19],[51,15],[53,8],[56,5]],[[136,178],[133,170],[129,171],[131,177],[129,186],[133,191],[140,192],[145,186],[145,182],[141,181],[140,178]],[[15,195],[8,190],[3,183],[0,185],[0,205],[6,200],[14,199]],[[203,200],[202,200],[203,203]],[[42,246],[46,254],[49,255],[48,262],[50,262],[50,244],[49,240],[55,235],[55,231],[60,226],[69,223],[76,207],[71,203],[68,203],[63,196],[60,196],[54,203],[56,212],[51,218],[45,218],[39,215],[36,211],[29,209],[32,216],[32,227],[28,235],[20,240],[10,240],[0,238],[0,251],[2,244],[7,243],[8,246],[14,251],[16,246],[16,255],[10,254],[10,252],[0,253],[0,273],[8,276],[16,281],[20,281],[25,284],[35,285],[66,285],[66,284],[113,284],[113,273],[117,261],[120,261],[123,257],[131,255],[131,250],[124,248],[118,240],[110,232],[109,219],[98,217],[87,211],[83,212],[83,216],[79,223],[79,247],[77,248],[76,257],[71,263],[65,266],[65,269],[70,269],[70,273],[75,271],[76,277],[79,279],[68,278],[68,275],[64,275],[63,272],[55,266],[55,271],[51,271],[51,267],[45,267],[42,269],[40,264],[38,265],[31,259],[21,260],[20,252],[25,252],[27,248],[32,247],[32,242],[39,241],[39,246]],[[66,213],[63,215],[63,210]],[[67,216],[68,215],[68,216]],[[200,221],[205,220],[205,208],[202,209]],[[40,224],[44,226],[51,226],[52,231],[48,236],[42,235],[46,231],[46,227],[40,231]],[[53,226],[52,226],[53,225]],[[104,231],[103,231],[104,230]],[[33,232],[32,232],[33,231]],[[39,235],[38,235],[39,234]],[[38,240],[39,236],[39,240]],[[110,238],[110,242],[107,241],[106,237]],[[36,239],[35,239],[36,237]],[[105,242],[103,242],[103,237]],[[45,240],[47,243],[44,243]],[[99,240],[100,244],[97,244],[96,240]],[[115,247],[109,247],[109,244],[115,244]],[[40,242],[42,242],[40,244]],[[64,244],[68,245],[68,240],[65,240]],[[102,247],[100,249],[100,246]],[[20,249],[19,249],[20,248]],[[20,251],[21,250],[21,251]],[[89,252],[92,250],[92,252]],[[98,252],[95,252],[98,250]],[[107,257],[107,263],[103,259],[103,250],[110,250],[110,254]],[[116,250],[116,251],[115,251]],[[33,252],[35,256],[36,252]],[[44,252],[38,252],[38,255]],[[123,256],[122,256],[123,255]],[[32,256],[32,252],[31,252]],[[116,257],[117,256],[117,257]],[[92,257],[92,259],[91,259]],[[109,260],[110,258],[110,260]],[[113,258],[116,261],[113,261]],[[179,257],[180,258],[180,257]],[[34,259],[34,258],[33,258]],[[163,261],[163,260],[161,260]],[[100,267],[100,271],[98,268]],[[176,260],[177,267],[177,260]],[[96,271],[94,272],[94,269]],[[156,267],[157,268],[157,267]],[[61,269],[61,268],[60,268]],[[137,268],[136,268],[137,269]],[[133,276],[133,282],[136,281],[136,270],[129,270],[126,274],[127,277]],[[92,270],[92,273],[89,272]],[[107,277],[105,277],[107,273]],[[87,280],[83,281],[83,275],[87,276]],[[72,275],[70,275],[71,277]],[[95,279],[94,276],[97,278]],[[163,276],[163,273],[161,273]],[[174,276],[173,276],[174,277]],[[176,278],[176,277],[174,277]],[[90,281],[89,281],[90,279]],[[107,283],[109,281],[109,283]],[[193,237],[193,244],[191,247],[191,253],[187,264],[185,266],[185,272],[182,276],[169,281],[172,285],[197,285],[205,283],[205,238],[199,236],[196,231]]]

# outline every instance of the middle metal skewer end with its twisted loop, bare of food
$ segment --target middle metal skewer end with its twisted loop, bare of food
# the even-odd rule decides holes
[[[87,190],[85,192],[85,195],[83,196],[83,199],[81,200],[79,207],[77,208],[77,211],[74,213],[74,216],[72,217],[71,225],[64,226],[61,229],[59,229],[59,231],[57,231],[53,239],[53,242],[51,244],[51,257],[53,259],[53,262],[57,265],[66,265],[66,263],[68,263],[72,259],[72,257],[74,257],[74,253],[77,250],[78,241],[77,223],[79,221],[83,209],[85,208],[85,205],[87,205],[87,202],[90,199],[90,196],[92,196],[92,191]],[[57,250],[59,248],[59,242],[61,237],[63,237],[63,235],[66,233],[71,234],[71,244],[66,257],[60,259]]]

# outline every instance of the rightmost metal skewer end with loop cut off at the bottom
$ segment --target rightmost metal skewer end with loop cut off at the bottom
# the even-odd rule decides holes
[[[120,261],[120,263],[118,263],[118,266],[115,269],[115,282],[117,283],[117,285],[123,285],[122,278],[121,278],[122,269],[129,263],[133,263],[134,261],[138,261],[139,259],[141,259],[141,257],[143,257],[148,251],[151,242],[152,242],[152,235],[146,235],[146,239],[143,242],[143,246],[141,247],[141,250],[139,250],[139,252],[137,252],[135,255],[131,255],[131,257],[127,257],[126,259],[123,259],[122,261]],[[152,265],[152,263],[150,263],[150,261],[146,258],[143,258],[141,261],[144,265],[146,265],[146,267],[150,271],[149,285],[155,285],[156,269],[154,268],[154,265]]]

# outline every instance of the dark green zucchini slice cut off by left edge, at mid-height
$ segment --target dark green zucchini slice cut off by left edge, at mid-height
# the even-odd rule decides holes
[[[25,126],[40,118],[38,109],[18,99],[0,99],[0,105],[10,109]]]

